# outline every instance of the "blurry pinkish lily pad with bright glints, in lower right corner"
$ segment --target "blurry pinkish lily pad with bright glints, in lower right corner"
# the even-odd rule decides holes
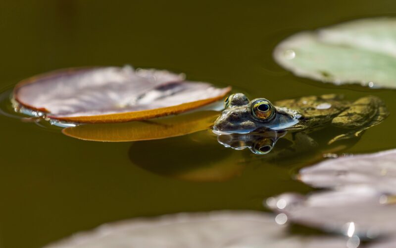
[[[396,235],[394,201],[375,188],[349,186],[308,196],[285,193],[269,198],[267,205],[292,222],[349,237],[375,238]]]

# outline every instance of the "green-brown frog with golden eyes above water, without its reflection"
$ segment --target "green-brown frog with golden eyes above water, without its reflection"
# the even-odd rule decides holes
[[[353,102],[335,94],[307,96],[277,101],[273,105],[265,98],[249,101],[244,94],[237,93],[230,95],[225,104],[225,110],[213,126],[216,134],[246,134],[268,129],[307,134],[330,125],[344,130],[331,138],[329,144],[359,137],[365,129],[381,123],[389,115],[384,102],[375,96]]]

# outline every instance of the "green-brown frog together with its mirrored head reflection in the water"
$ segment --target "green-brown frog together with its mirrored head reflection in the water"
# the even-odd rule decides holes
[[[265,98],[249,101],[244,94],[237,93],[227,97],[225,105],[213,126],[218,141],[234,149],[248,147],[256,154],[268,153],[287,131],[292,133],[292,150],[303,150],[317,146],[308,133],[337,127],[340,132],[327,141],[332,144],[359,137],[389,115],[384,102],[375,96],[352,102],[329,94],[282,100],[272,105]]]

